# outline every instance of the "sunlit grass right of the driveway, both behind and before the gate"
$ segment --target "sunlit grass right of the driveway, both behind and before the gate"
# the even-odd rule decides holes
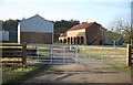
[[[116,47],[114,47],[114,46],[103,46],[103,47],[102,46],[99,46],[99,47],[98,46],[85,46],[85,47],[83,47],[83,46],[81,46],[79,49],[85,50],[85,51],[80,51],[80,53],[86,53],[88,55],[91,50],[91,57],[101,60],[104,63],[112,63],[112,61],[115,63],[125,63],[126,62],[126,47],[120,47],[120,46],[116,46]],[[102,52],[102,50],[103,50],[103,52]],[[120,61],[122,61],[122,62],[120,62]],[[119,68],[121,71],[125,71],[129,74],[131,74],[131,73],[133,74],[133,70],[131,67],[129,67],[126,65],[126,63],[122,64],[122,65],[113,64],[112,66],[115,68]]]

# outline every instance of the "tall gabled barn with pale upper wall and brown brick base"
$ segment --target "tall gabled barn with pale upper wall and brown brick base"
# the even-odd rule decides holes
[[[40,15],[22,20],[18,25],[19,43],[53,43],[53,23]]]

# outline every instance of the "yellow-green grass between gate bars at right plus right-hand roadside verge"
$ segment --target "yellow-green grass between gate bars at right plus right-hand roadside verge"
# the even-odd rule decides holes
[[[79,47],[80,50],[83,50],[83,46],[81,46],[81,47]],[[85,50],[89,50],[90,47],[85,47]],[[114,50],[114,47],[113,46],[110,46],[110,47],[103,47],[104,50]],[[96,47],[96,46],[91,46],[91,50],[102,50],[102,46],[99,46],[99,47]],[[116,47],[116,50],[126,50],[126,47]],[[89,53],[90,51],[80,51],[80,53]],[[91,51],[91,54],[100,54],[100,53],[102,53],[102,51]],[[105,54],[108,54],[108,53],[111,53],[111,54],[113,54],[114,52],[113,51],[104,51],[103,53],[105,53]],[[119,54],[126,54],[126,51],[116,51],[116,53]],[[96,60],[102,60],[101,59],[101,55],[91,55],[91,57],[100,57],[100,59],[96,59]],[[113,55],[103,55],[103,57],[114,57]],[[125,55],[117,55],[116,57],[126,57]],[[113,60],[111,60],[111,59],[103,59],[103,62],[104,61],[113,61]],[[125,61],[125,60],[121,60],[121,59],[119,59],[119,60],[116,60],[116,61]],[[105,63],[111,63],[111,62],[105,62]],[[115,62],[115,63],[117,63],[117,62]],[[112,65],[112,64],[111,64]],[[126,73],[129,73],[129,74],[133,74],[133,68],[131,68],[131,67],[129,67],[126,64],[125,65],[112,65],[113,67],[115,67],[115,68],[119,68],[119,70],[121,70],[121,71],[124,71],[124,72],[126,72]]]

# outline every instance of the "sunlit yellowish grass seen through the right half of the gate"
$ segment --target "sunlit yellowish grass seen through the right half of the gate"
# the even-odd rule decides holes
[[[114,46],[85,46],[80,47],[80,53],[98,57],[103,61],[126,61],[126,47]],[[122,62],[120,62],[122,63]]]

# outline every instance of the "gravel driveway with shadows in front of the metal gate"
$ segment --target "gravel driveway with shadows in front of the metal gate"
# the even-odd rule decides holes
[[[131,83],[131,75],[111,65],[47,65],[23,83]]]

